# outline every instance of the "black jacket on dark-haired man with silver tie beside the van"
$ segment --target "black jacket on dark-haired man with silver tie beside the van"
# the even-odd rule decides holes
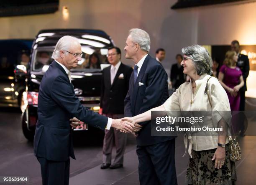
[[[121,63],[112,85],[110,68],[111,66],[102,71],[100,107],[104,114],[124,114],[124,99],[129,89],[129,79],[133,68]],[[120,74],[123,74],[123,78]]]

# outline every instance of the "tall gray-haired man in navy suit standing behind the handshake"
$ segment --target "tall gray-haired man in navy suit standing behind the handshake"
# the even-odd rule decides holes
[[[160,62],[148,55],[150,38],[146,31],[134,28],[125,43],[125,58],[136,64],[125,97],[125,117],[133,117],[163,104],[168,99],[167,74]],[[177,185],[175,137],[151,136],[150,122],[140,123],[137,155],[141,185]]]

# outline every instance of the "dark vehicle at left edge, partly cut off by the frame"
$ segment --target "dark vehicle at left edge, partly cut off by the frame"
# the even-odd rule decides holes
[[[26,90],[26,66],[33,39],[0,41],[0,106],[20,107]],[[25,71],[24,71],[25,70]]]

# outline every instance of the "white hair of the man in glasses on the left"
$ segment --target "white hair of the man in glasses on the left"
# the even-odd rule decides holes
[[[74,46],[74,44],[80,44],[78,39],[69,35],[65,35],[59,39],[57,42],[54,52],[52,53],[52,58],[55,60],[59,58],[59,52],[62,50],[68,51],[71,46]],[[67,55],[67,52],[65,52]]]

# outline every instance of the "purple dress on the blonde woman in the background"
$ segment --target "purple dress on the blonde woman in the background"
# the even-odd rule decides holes
[[[240,76],[242,75],[242,71],[240,68],[230,68],[226,65],[223,65],[220,67],[220,72],[224,74],[223,83],[230,87],[234,88],[236,85],[240,84]],[[228,94],[228,100],[230,104],[231,111],[238,111],[239,110],[239,104],[240,104],[240,94],[238,91],[238,94],[236,97],[231,96],[231,94],[226,91]]]

